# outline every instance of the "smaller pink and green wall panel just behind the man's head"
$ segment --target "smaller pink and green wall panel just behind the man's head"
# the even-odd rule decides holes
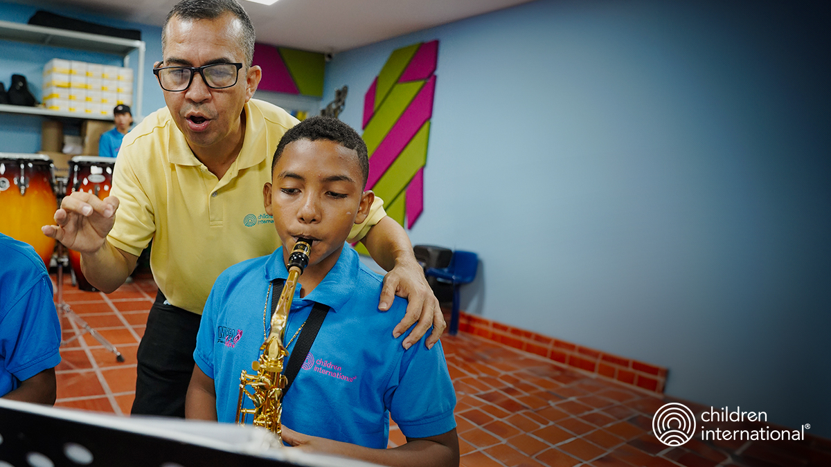
[[[323,96],[326,58],[322,53],[255,43],[253,64],[263,69],[258,89]]]

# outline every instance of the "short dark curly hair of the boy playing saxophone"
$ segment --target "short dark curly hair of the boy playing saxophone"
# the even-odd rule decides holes
[[[369,179],[369,157],[366,155],[366,143],[358,135],[352,126],[337,120],[334,117],[327,116],[313,116],[302,120],[293,128],[286,131],[280,143],[277,145],[277,150],[274,151],[274,160],[271,162],[271,171],[277,166],[277,161],[283,155],[283,150],[290,143],[297,140],[330,140],[335,141],[343,147],[355,150],[358,155],[358,166],[361,167],[361,175],[363,175],[363,187],[366,187],[366,180]]]

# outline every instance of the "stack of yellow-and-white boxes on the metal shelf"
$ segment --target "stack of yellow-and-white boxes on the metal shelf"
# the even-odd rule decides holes
[[[53,58],[43,67],[43,101],[52,111],[112,116],[133,105],[133,69]]]

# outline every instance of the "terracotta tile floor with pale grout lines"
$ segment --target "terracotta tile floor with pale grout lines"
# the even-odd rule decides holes
[[[151,279],[138,279],[109,295],[65,288],[72,310],[115,344],[125,361],[117,362],[89,334],[70,342],[61,349],[63,361],[56,371],[56,406],[130,413],[135,351],[155,291]],[[61,326],[65,338],[77,332],[66,318]],[[652,415],[671,398],[599,381],[466,333],[445,336],[442,344],[458,400],[461,465],[831,465],[831,440],[811,437],[801,442],[714,444],[694,439],[676,448],[662,445],[652,435]],[[405,442],[392,424],[390,445]]]

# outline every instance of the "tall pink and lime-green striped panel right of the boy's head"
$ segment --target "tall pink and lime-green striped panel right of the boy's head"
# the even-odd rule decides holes
[[[363,139],[371,189],[386,214],[412,229],[424,210],[424,166],[439,42],[393,51],[364,96]]]

